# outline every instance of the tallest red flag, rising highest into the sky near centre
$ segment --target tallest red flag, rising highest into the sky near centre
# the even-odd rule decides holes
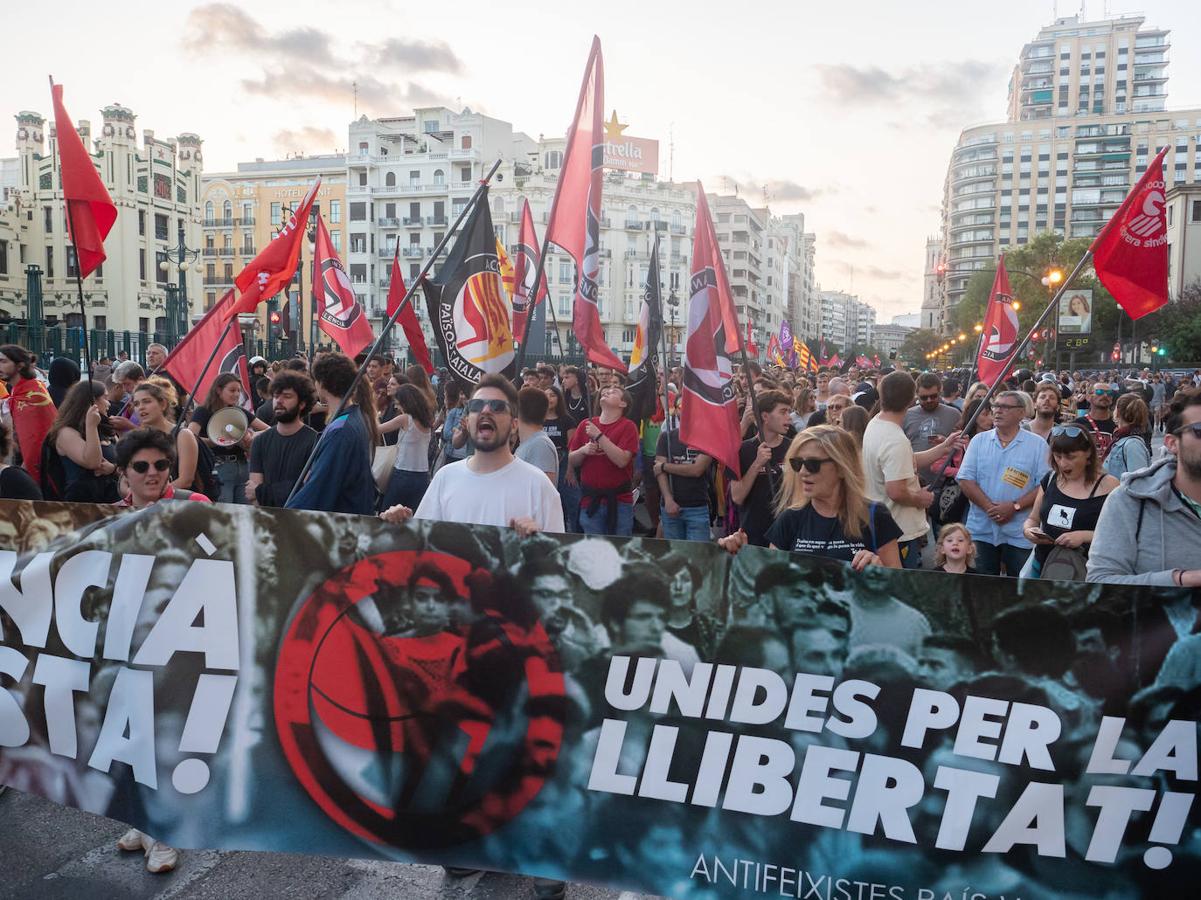
[[[550,208],[546,240],[575,260],[575,300],[572,329],[590,362],[617,371],[626,364],[609,348],[600,324],[600,185],[604,162],[604,60],[600,38],[592,38],[592,52],[584,70],[575,120],[567,136],[563,168]]]

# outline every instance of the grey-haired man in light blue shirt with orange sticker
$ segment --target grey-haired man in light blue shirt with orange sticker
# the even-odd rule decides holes
[[[956,476],[970,503],[968,531],[975,538],[976,571],[1016,578],[1033,544],[1020,514],[1034,503],[1039,482],[1051,470],[1047,445],[1022,429],[1024,394],[1003,391],[992,400],[993,427],[968,445]]]

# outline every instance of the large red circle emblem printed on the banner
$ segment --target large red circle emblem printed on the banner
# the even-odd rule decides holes
[[[437,571],[461,616],[392,633],[387,610],[418,567]],[[515,818],[554,771],[567,707],[558,654],[480,578],[448,554],[378,554],[328,578],[285,632],[274,681],[283,756],[317,806],[366,841],[474,840]]]

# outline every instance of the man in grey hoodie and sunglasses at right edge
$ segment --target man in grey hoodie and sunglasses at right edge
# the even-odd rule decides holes
[[[1131,472],[1105,501],[1089,582],[1201,586],[1201,391],[1176,393],[1165,429],[1164,458]],[[1188,633],[1194,622],[1173,625]]]

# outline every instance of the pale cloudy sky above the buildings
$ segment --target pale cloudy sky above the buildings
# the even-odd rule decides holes
[[[1005,113],[1009,72],[1066,0],[922,4],[88,0],[6,11],[0,114],[49,111],[47,74],[76,119],[113,101],[160,137],[195,131],[205,168],[345,149],[358,109],[446,103],[561,135],[592,34],[607,114],[661,141],[662,177],[739,187],[803,211],[818,279],[854,290],[882,321],[921,304],[922,254],[938,230],[958,131]],[[594,12],[593,12],[594,11]],[[1089,19],[1145,14],[1171,28],[1169,105],[1201,107],[1201,4],[1093,0]],[[70,26],[67,26],[70,25]],[[50,28],[61,30],[53,38]],[[8,119],[11,123],[12,120]],[[674,144],[669,153],[668,143]],[[0,149],[0,154],[4,150]],[[669,172],[670,160],[670,172]]]

